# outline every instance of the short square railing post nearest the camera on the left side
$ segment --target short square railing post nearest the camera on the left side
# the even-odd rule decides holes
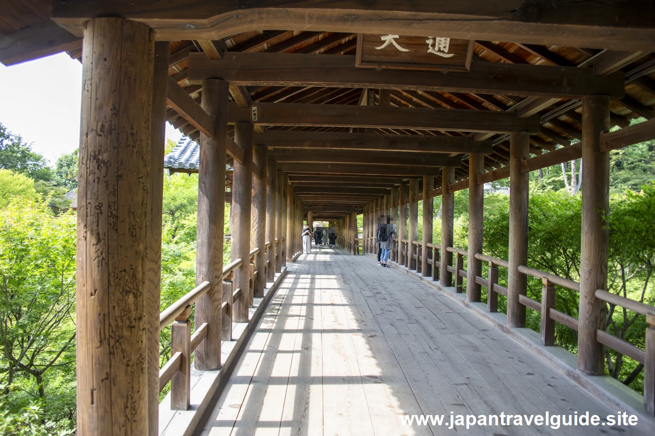
[[[171,354],[181,353],[181,365],[170,379],[170,408],[189,410],[191,404],[191,306],[170,327]]]

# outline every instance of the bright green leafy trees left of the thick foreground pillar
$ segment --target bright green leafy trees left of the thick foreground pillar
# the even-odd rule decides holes
[[[74,213],[56,216],[39,200],[0,209],[0,371],[14,415],[6,422],[27,416],[37,400],[29,416],[73,425],[75,225]]]

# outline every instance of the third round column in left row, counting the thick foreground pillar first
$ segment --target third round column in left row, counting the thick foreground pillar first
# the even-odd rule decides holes
[[[234,160],[232,179],[232,209],[230,232],[232,234],[232,261],[241,259],[234,270],[234,289],[241,289],[241,297],[233,303],[234,322],[248,322],[250,294],[250,219],[252,212],[252,159],[253,125],[250,122],[234,124],[234,142],[244,151],[244,163]]]

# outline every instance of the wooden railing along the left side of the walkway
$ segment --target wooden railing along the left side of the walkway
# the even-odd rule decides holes
[[[267,242],[266,247],[271,243]],[[232,307],[239,299],[248,299],[248,306],[252,306],[253,285],[259,271],[255,269],[254,259],[259,254],[259,248],[250,251],[250,292],[246,289],[233,289],[234,270],[242,266],[242,259],[223,267],[223,303],[221,304],[221,340],[232,340]],[[202,323],[195,326],[191,335],[191,311],[196,300],[205,295],[211,287],[210,282],[202,282],[192,291],[168,306],[159,315],[159,331],[171,325],[171,358],[159,371],[159,391],[161,392],[170,382],[171,409],[188,410],[191,395],[191,354],[207,337],[210,325]],[[218,323],[218,321],[217,321]],[[216,328],[218,325],[216,326]]]

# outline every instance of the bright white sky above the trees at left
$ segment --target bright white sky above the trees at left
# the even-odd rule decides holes
[[[0,123],[54,165],[79,147],[81,90],[82,64],[65,53],[0,64]],[[166,123],[166,137],[181,133]]]

